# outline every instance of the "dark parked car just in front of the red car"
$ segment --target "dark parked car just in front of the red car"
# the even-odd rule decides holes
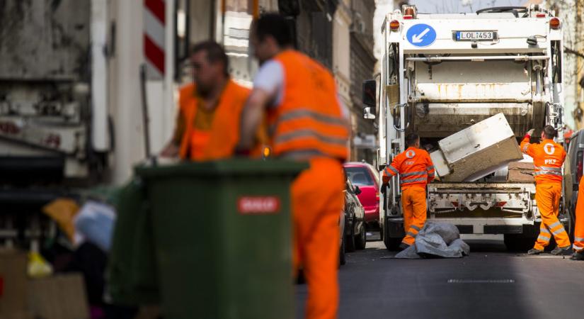
[[[367,230],[365,230],[365,209],[357,196],[361,194],[358,186],[353,186],[347,179],[345,185],[345,227],[344,243],[346,252],[364,250],[367,244]]]

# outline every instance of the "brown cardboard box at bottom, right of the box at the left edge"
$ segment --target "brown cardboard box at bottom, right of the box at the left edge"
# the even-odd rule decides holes
[[[28,283],[28,305],[43,319],[88,319],[89,309],[81,274],[58,274]]]

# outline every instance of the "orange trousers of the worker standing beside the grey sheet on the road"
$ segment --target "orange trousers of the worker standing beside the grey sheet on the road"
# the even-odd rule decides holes
[[[426,222],[426,190],[423,186],[410,186],[401,190],[401,208],[403,210],[403,228],[406,237],[403,242],[413,245],[418,232],[422,230]]]

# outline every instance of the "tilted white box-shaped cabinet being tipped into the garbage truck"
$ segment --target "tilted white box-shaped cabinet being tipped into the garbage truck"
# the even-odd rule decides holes
[[[523,158],[503,113],[438,142],[430,157],[442,181],[475,181]]]

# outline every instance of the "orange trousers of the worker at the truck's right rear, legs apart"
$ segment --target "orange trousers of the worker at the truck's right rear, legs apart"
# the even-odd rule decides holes
[[[539,236],[535,242],[536,250],[544,250],[549,245],[549,240],[553,235],[558,247],[570,246],[570,238],[558,220],[561,197],[561,184],[542,183],[535,186],[535,201],[539,214],[542,216],[542,223],[539,225]]]

